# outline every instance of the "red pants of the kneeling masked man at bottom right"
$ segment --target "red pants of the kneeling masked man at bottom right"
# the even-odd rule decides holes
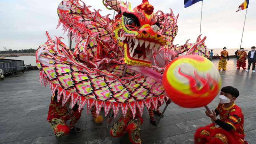
[[[198,128],[194,140],[196,144],[248,144],[231,132],[215,127],[214,124]]]

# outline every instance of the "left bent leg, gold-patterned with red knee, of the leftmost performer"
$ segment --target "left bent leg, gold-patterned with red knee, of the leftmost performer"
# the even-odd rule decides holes
[[[57,137],[67,135],[70,131],[69,126],[62,117],[53,118],[49,123]]]

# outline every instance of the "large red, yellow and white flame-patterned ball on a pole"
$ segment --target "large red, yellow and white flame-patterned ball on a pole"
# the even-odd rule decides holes
[[[216,97],[220,85],[217,68],[202,56],[178,57],[164,71],[164,90],[174,103],[184,108],[206,106]]]

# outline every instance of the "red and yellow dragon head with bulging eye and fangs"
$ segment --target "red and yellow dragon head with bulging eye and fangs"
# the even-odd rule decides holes
[[[124,60],[129,65],[150,66],[151,49],[158,49],[166,44],[165,37],[159,30],[159,22],[154,14],[154,7],[143,0],[134,9],[131,3],[120,3],[121,11],[113,23],[112,36],[116,43],[124,48]]]

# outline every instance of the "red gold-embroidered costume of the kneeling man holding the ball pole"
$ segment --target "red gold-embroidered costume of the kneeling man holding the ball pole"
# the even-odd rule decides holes
[[[217,110],[220,115],[220,120],[232,125],[231,131],[226,131],[216,127],[214,124],[197,129],[195,133],[196,144],[247,144],[244,141],[244,114],[235,103],[224,108],[224,104],[219,104]]]

